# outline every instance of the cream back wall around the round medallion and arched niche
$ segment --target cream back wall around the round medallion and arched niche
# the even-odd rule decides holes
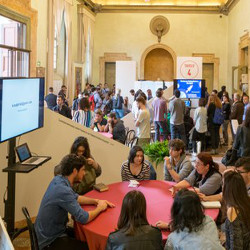
[[[96,16],[94,40],[94,83],[99,81],[99,57],[105,52],[126,52],[139,62],[149,46],[157,43],[149,24],[156,14],[103,13]],[[162,43],[177,56],[192,53],[214,53],[220,58],[220,83],[227,80],[227,17],[209,14],[164,14],[170,30]],[[138,76],[139,77],[139,76]]]

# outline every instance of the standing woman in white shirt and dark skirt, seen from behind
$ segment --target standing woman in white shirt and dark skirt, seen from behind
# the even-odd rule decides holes
[[[199,107],[194,111],[195,128],[193,132],[193,152],[197,153],[197,141],[201,141],[201,151],[205,149],[205,134],[207,132],[207,109],[206,100],[199,99]],[[199,152],[200,153],[200,152]]]

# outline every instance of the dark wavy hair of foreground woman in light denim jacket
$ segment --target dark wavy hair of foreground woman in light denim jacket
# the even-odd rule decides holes
[[[189,232],[197,232],[205,218],[203,207],[199,196],[186,188],[180,190],[171,208],[170,227],[173,231],[183,231],[187,228]]]

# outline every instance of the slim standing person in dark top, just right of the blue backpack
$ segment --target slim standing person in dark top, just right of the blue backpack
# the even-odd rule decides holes
[[[229,103],[229,96],[223,94],[222,110],[224,115],[224,122],[222,124],[222,134],[224,138],[224,146],[228,146],[228,124],[230,122],[231,105]]]

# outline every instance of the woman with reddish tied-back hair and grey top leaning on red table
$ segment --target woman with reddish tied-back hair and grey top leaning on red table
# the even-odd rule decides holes
[[[219,165],[213,161],[208,153],[199,153],[196,158],[195,169],[183,181],[173,186],[173,195],[182,188],[194,187],[196,192],[213,195],[221,192],[221,173]]]

